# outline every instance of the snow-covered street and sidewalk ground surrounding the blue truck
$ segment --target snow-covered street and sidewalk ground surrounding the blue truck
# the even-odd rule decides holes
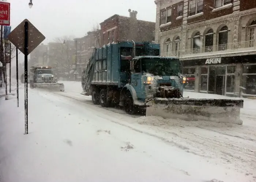
[[[79,82],[64,84],[29,89],[29,135],[23,107],[0,101],[1,182],[256,180],[255,100],[245,99],[243,126],[188,123],[101,108]]]

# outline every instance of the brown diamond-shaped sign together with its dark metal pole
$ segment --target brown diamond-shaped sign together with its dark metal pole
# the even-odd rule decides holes
[[[23,20],[9,35],[8,39],[20,52],[24,54],[24,77],[25,77],[25,134],[29,133],[28,127],[28,92],[27,92],[27,56],[32,52],[43,40],[45,36],[30,23],[29,20]],[[16,52],[17,54],[17,52]],[[18,56],[17,56],[18,57]]]

